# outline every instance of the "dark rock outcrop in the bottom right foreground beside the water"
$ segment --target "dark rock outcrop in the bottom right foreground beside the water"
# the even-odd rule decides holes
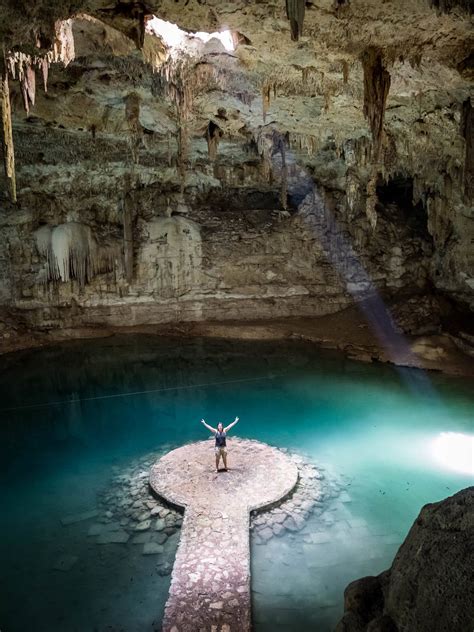
[[[336,632],[474,629],[474,487],[426,505],[392,567],[344,592]]]

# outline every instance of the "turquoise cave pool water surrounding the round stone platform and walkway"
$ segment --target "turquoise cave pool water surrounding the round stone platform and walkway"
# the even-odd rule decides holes
[[[347,583],[390,566],[425,503],[473,483],[467,439],[442,434],[473,434],[472,387],[297,342],[133,336],[3,356],[0,629],[159,630],[156,559],[61,518],[94,509],[134,459],[205,438],[202,417],[235,415],[240,436],[306,454],[341,492],[302,532],[252,543],[254,628],[333,629]]]

